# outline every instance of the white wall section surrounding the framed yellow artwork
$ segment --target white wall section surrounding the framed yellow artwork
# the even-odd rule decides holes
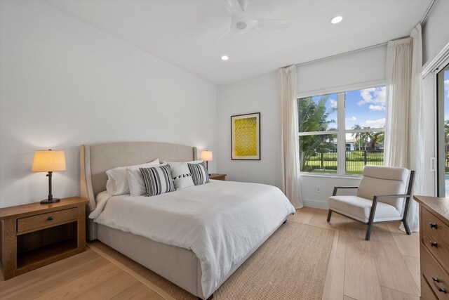
[[[217,172],[227,180],[281,186],[277,72],[217,88]],[[260,112],[261,159],[231,159],[231,116]]]

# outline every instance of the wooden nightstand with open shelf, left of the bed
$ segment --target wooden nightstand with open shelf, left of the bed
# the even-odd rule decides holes
[[[0,209],[5,280],[86,250],[86,204],[80,197]]]

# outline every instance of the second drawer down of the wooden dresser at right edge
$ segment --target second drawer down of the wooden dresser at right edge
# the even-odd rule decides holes
[[[421,273],[429,282],[438,299],[449,300],[449,274],[441,268],[429,251],[421,244]],[[444,292],[445,291],[445,292]]]

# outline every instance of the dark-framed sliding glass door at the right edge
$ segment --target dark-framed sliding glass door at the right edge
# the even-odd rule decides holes
[[[449,197],[449,64],[436,74],[438,197]]]

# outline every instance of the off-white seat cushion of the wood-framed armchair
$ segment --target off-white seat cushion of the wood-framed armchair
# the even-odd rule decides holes
[[[365,223],[367,223],[370,219],[372,205],[373,200],[368,200],[358,196],[329,197],[329,209]],[[377,202],[374,221],[392,221],[401,219],[401,214],[394,206],[384,202]]]

